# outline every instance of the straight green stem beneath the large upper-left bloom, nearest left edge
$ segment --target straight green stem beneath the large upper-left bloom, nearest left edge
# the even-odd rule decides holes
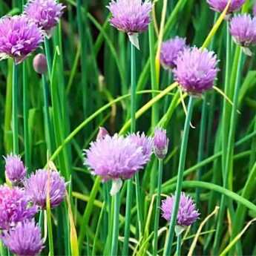
[[[13,62],[13,154],[19,154],[18,100],[18,65]]]

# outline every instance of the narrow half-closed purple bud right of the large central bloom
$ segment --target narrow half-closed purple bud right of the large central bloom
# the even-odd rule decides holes
[[[156,128],[154,131],[154,154],[160,158],[164,159],[168,152],[169,139],[166,136],[166,130],[161,128]]]

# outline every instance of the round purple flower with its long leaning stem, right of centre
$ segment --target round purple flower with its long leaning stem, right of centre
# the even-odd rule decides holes
[[[183,90],[190,94],[190,96],[180,148],[180,161],[177,174],[174,207],[171,214],[168,239],[163,253],[164,256],[170,255],[171,253],[175,226],[177,225],[177,214],[179,211],[181,189],[183,185],[183,172],[186,163],[188,134],[194,107],[194,95],[201,95],[203,92],[211,89],[214,79],[216,79],[217,76],[217,58],[213,52],[209,52],[208,50],[200,50],[196,47],[186,49],[180,54],[180,56],[178,56],[176,65],[177,68],[174,69],[175,79]]]

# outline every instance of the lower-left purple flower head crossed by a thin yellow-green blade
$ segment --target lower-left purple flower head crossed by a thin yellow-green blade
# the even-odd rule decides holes
[[[24,188],[28,197],[42,209],[46,209],[48,179],[49,172],[40,169],[24,181]],[[50,171],[50,207],[59,206],[64,200],[65,194],[64,178],[60,176],[59,171]]]

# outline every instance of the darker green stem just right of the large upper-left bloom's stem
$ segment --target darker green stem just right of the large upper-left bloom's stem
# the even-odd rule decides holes
[[[27,165],[28,171],[30,171],[30,137],[28,128],[28,87],[27,87],[27,68],[26,62],[22,63],[22,79],[23,79],[23,125],[24,125],[24,154],[25,163]]]

